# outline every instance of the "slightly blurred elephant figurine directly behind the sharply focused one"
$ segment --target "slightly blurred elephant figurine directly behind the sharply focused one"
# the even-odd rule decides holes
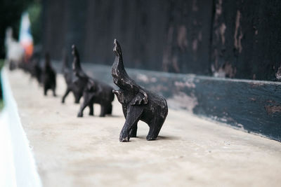
[[[112,101],[114,99],[114,94],[112,92],[113,88],[110,85],[96,81],[93,78],[87,76],[81,69],[79,53],[77,48],[72,46],[72,55],[74,60],[72,63],[72,68],[74,75],[77,77],[77,82],[74,85],[83,85],[83,99],[84,102],[81,104],[79,109],[78,117],[83,116],[83,111],[86,106],[89,106],[89,115],[93,116],[93,104],[100,104],[100,117],[104,117],[105,114],[112,113]],[[75,81],[74,81],[75,82]],[[78,83],[81,83],[79,85]]]

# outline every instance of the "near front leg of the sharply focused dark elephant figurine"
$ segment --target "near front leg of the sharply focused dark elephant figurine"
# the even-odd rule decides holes
[[[119,141],[124,142],[124,141],[130,140],[130,134],[131,134],[130,132],[132,130],[136,130],[135,126],[137,125],[138,120],[140,120],[142,113],[143,113],[143,106],[129,105],[127,114],[126,114],[126,121],[120,132]],[[135,129],[133,129],[133,128],[135,128]]]

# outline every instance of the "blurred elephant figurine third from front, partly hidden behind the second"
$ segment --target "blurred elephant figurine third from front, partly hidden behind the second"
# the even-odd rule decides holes
[[[65,83],[67,85],[67,88],[65,90],[65,94],[63,95],[62,98],[62,103],[65,103],[65,98],[67,95],[72,92],[74,95],[74,103],[78,104],[82,95],[83,95],[83,90],[85,83],[84,81],[81,81],[80,78],[77,76],[74,76],[73,71],[68,64],[68,59],[67,59],[67,54],[64,51],[63,53],[63,76],[65,78]]]

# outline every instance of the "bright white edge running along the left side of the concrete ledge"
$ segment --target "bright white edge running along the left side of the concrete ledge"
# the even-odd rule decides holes
[[[1,71],[1,83],[4,109],[0,115],[0,151],[3,151],[0,153],[0,186],[41,187],[32,148],[22,128],[6,68]]]

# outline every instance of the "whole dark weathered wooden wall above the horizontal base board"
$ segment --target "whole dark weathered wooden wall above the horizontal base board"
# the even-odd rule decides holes
[[[44,50],[60,60],[230,78],[281,78],[281,1],[44,0]],[[280,67],[280,75],[277,72]]]

